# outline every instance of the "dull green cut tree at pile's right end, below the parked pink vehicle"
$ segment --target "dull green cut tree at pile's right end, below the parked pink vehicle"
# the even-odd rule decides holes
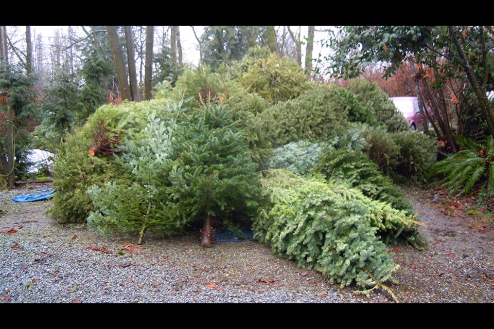
[[[437,158],[437,141],[416,132],[391,134],[398,147],[396,174],[398,180],[420,183]]]

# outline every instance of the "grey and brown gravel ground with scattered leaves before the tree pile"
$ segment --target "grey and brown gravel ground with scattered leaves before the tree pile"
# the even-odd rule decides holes
[[[387,303],[340,288],[313,270],[274,256],[255,241],[203,248],[198,236],[104,239],[82,225],[59,225],[44,213],[50,201],[10,203],[11,197],[48,188],[0,193],[0,302],[4,303]],[[391,246],[398,284],[407,303],[494,302],[494,230],[479,229],[438,212],[419,190],[417,205],[429,248]]]

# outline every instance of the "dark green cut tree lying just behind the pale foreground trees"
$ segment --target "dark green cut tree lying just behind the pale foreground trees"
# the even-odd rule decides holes
[[[373,200],[390,204],[412,215],[412,205],[407,201],[391,179],[379,172],[376,163],[361,151],[328,149],[314,169],[328,180],[348,184]],[[415,234],[416,231],[409,232]],[[402,232],[402,235],[407,235]]]

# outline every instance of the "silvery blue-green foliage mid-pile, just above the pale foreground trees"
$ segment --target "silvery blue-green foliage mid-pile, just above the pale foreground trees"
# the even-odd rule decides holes
[[[321,156],[323,144],[301,140],[276,148],[268,160],[268,169],[286,169],[294,174],[310,172]]]

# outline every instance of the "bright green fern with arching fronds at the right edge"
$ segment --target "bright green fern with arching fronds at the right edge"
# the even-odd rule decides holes
[[[484,184],[487,192],[494,192],[494,139],[490,137],[484,143],[469,142],[468,145],[471,149],[436,162],[429,177],[441,177],[441,187],[453,193],[469,194],[478,182]]]

